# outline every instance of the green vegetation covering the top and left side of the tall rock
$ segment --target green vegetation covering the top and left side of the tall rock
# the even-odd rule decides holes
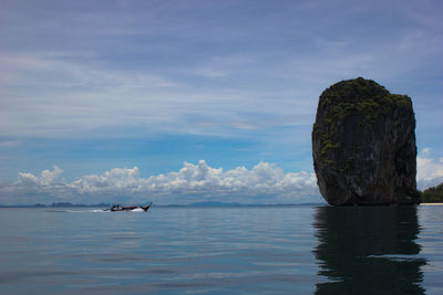
[[[344,124],[348,116],[356,117],[354,135],[362,135],[374,127],[381,116],[389,116],[394,108],[405,108],[412,112],[411,98],[406,95],[390,94],[383,86],[372,80],[358,77],[339,82],[327,88],[319,101],[323,109],[323,128],[316,120],[312,134],[320,138],[320,157],[332,169],[351,172],[352,162],[347,160],[337,167],[337,161],[329,154],[340,147],[337,129]],[[358,147],[359,148],[358,148]],[[356,143],[356,152],[361,145]],[[354,156],[350,158],[354,159]]]

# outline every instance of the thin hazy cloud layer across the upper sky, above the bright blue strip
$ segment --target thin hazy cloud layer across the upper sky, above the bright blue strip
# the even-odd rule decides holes
[[[45,4],[51,17],[39,18],[16,2],[0,31],[9,44],[0,54],[0,136],[241,136],[265,124],[310,126],[321,91],[342,78],[411,89],[441,76],[432,4],[286,1],[260,11],[243,1],[197,10],[141,1],[124,10]],[[429,89],[419,87],[414,102]]]

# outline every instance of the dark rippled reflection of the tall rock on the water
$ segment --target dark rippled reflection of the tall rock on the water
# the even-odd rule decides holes
[[[321,207],[316,294],[424,294],[415,207]]]

